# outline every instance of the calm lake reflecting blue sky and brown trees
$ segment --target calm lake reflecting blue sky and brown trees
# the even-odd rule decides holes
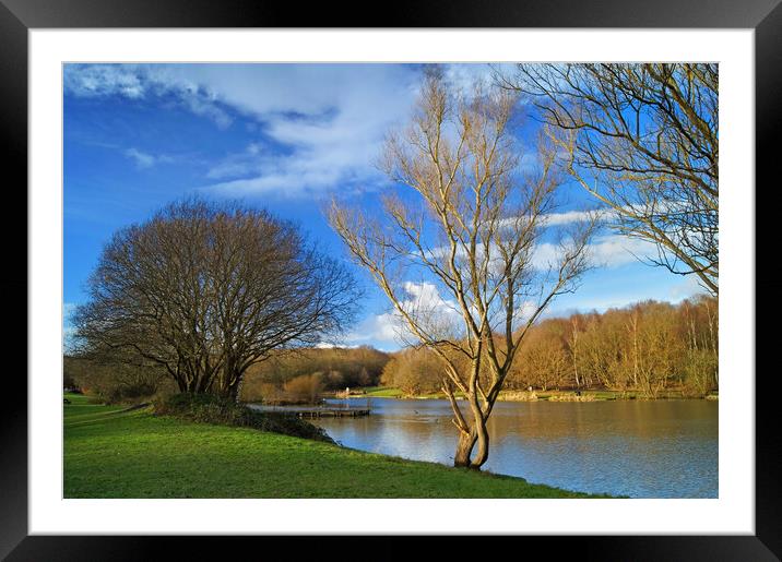
[[[349,403],[358,407],[367,399]],[[452,464],[457,429],[448,400],[371,398],[370,406],[364,418],[312,421],[347,447]],[[582,492],[716,498],[718,406],[712,400],[498,402],[483,469]]]

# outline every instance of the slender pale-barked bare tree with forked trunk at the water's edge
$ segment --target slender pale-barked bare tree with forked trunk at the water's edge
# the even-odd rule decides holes
[[[522,177],[508,127],[516,95],[470,94],[458,99],[428,75],[412,123],[389,135],[381,158],[406,189],[374,215],[333,201],[329,218],[410,338],[443,363],[442,391],[459,430],[454,465],[479,468],[517,349],[552,300],[574,288],[594,222],[562,234],[548,266],[537,263],[538,242],[554,235],[546,227],[560,184],[554,153],[542,152],[540,169]]]

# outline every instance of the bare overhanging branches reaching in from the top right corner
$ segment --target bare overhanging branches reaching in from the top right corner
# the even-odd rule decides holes
[[[521,63],[498,79],[532,96],[571,174],[621,232],[718,294],[718,64]]]

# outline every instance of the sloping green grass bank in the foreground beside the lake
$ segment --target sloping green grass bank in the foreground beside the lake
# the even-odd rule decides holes
[[[68,395],[66,498],[588,498],[521,478]]]

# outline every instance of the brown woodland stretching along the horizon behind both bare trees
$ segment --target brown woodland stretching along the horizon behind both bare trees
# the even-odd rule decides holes
[[[513,360],[508,390],[605,388],[649,398],[667,392],[702,397],[719,388],[718,300],[645,301],[604,313],[538,322]],[[392,386],[414,396],[438,392],[441,362],[426,348],[386,354],[371,347],[286,350],[252,366],[245,402],[308,400],[345,387]],[[173,391],[153,366],[66,358],[66,383],[109,402]]]

